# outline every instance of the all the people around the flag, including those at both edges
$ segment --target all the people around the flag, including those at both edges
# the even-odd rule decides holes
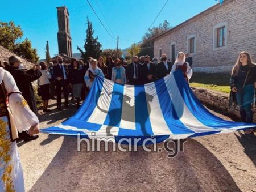
[[[103,57],[88,58],[87,63],[73,59],[69,65],[64,65],[63,58],[57,57],[55,64],[44,62],[35,64],[32,69],[24,70],[20,59],[11,56],[9,62],[2,63],[0,67],[0,137],[1,145],[5,147],[2,156],[5,158],[3,174],[5,177],[15,178],[20,186],[23,182],[23,173],[20,165],[16,142],[17,138],[34,140],[38,138],[39,120],[37,117],[36,97],[32,82],[38,80],[40,96],[43,100],[43,112],[49,112],[48,101],[57,96],[57,109],[61,110],[61,95],[64,94],[64,105],[68,108],[68,94],[72,93],[73,99],[80,101],[85,99],[86,92],[92,88],[96,76],[102,76],[119,84],[139,85],[154,82],[164,78],[171,71],[181,70],[184,80],[189,83],[192,76],[192,58],[188,54],[179,52],[175,63],[168,61],[166,54],[162,54],[160,62],[150,56],[133,57],[130,64],[122,59],[108,56],[106,63]],[[157,63],[157,64],[156,64]],[[230,78],[232,99],[240,108],[242,122],[252,123],[253,104],[256,92],[256,65],[253,63],[250,53],[241,52],[233,67]],[[9,105],[6,100],[9,100]],[[10,108],[10,110],[9,110]],[[10,122],[5,122],[5,117]],[[253,129],[245,130],[246,134],[253,133]],[[16,134],[15,134],[16,133]],[[0,147],[2,147],[0,146]],[[10,156],[13,157],[10,160]],[[11,169],[10,169],[11,168]],[[6,180],[5,186],[15,190]]]

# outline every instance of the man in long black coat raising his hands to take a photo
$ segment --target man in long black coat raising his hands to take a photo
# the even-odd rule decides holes
[[[9,65],[5,66],[5,69],[13,75],[14,80],[22,93],[22,96],[27,101],[28,106],[35,114],[38,113],[38,108],[36,106],[36,97],[34,93],[33,86],[31,82],[39,79],[42,76],[40,65],[34,65],[31,70],[24,71],[19,69],[20,59],[16,56],[9,57]],[[14,117],[15,118],[15,117]],[[30,136],[26,131],[19,133],[19,139],[34,140],[38,138],[38,135]]]

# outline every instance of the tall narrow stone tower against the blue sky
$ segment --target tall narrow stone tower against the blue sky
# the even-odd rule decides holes
[[[57,7],[58,14],[58,26],[59,31],[58,36],[58,46],[59,54],[67,54],[67,56],[72,57],[72,42],[69,28],[69,12],[68,8]]]

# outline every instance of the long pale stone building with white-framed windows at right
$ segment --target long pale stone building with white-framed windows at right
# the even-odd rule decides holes
[[[243,50],[256,62],[255,0],[225,0],[154,39],[156,58],[188,52],[200,72],[230,72]]]

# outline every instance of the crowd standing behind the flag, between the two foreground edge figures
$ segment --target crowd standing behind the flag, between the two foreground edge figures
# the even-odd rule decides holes
[[[187,54],[186,54],[187,55]],[[43,100],[43,111],[49,112],[48,100],[57,97],[57,109],[61,110],[61,95],[64,94],[64,106],[68,108],[68,95],[71,93],[72,99],[76,99],[77,108],[80,101],[85,99],[86,92],[92,87],[95,76],[100,75],[106,79],[112,80],[119,84],[146,84],[156,79],[163,78],[170,74],[171,70],[177,70],[183,67],[184,77],[188,82],[187,72],[192,72],[192,58],[185,56],[184,53],[179,54],[177,58],[176,68],[167,61],[166,54],[162,54],[161,61],[156,64],[151,62],[150,56],[134,56],[132,63],[127,64],[122,58],[113,60],[111,56],[94,59],[88,58],[84,63],[77,59],[73,59],[70,64],[64,63],[61,56],[57,56],[55,63],[49,63],[49,69],[44,62],[40,62],[42,76],[39,78],[39,95]],[[187,59],[190,59],[187,62]],[[184,65],[183,65],[184,64]]]

